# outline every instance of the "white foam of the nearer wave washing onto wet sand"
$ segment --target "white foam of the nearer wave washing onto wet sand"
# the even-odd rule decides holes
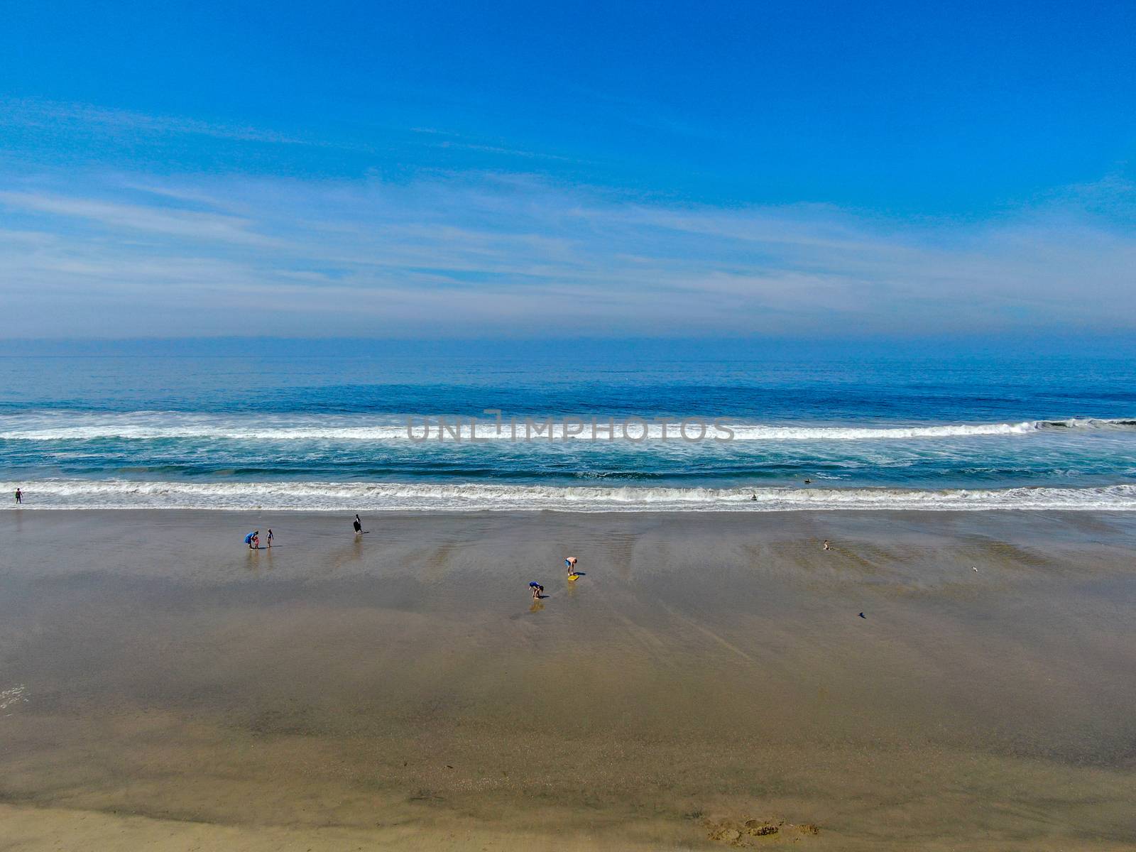
[[[15,483],[0,490],[10,493]],[[786,511],[1061,509],[1136,511],[1136,485],[951,488],[665,488],[335,482],[181,483],[41,479],[23,510],[265,509],[273,511]],[[757,496],[757,500],[753,499]],[[12,504],[8,507],[15,510]]]

